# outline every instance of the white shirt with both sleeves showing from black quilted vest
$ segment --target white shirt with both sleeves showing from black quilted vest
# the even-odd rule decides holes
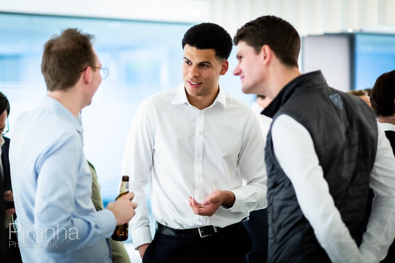
[[[288,115],[280,115],[273,123],[276,158],[292,182],[303,215],[332,262],[378,262],[385,257],[394,240],[395,158],[384,132],[378,130],[376,159],[369,184],[375,198],[358,249],[329,193],[307,129]]]

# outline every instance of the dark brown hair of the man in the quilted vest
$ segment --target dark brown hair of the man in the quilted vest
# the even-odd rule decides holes
[[[301,37],[282,18],[263,16],[252,20],[237,30],[233,41],[235,45],[239,41],[245,41],[257,54],[261,52],[263,45],[268,45],[283,64],[298,67]]]

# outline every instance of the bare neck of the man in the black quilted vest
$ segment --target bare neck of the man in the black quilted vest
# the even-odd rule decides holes
[[[270,99],[274,99],[285,85],[300,75],[301,72],[297,67],[288,67],[281,64],[273,68],[270,74],[271,77],[266,82],[269,83],[267,96]]]

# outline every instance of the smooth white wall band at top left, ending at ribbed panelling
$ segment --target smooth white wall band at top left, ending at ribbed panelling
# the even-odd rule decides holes
[[[207,0],[0,0],[0,12],[132,20],[209,20]]]

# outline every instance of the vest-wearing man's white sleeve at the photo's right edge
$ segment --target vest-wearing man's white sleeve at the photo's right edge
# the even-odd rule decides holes
[[[372,212],[359,250],[365,258],[384,259],[395,237],[395,158],[379,125],[370,187],[375,193]]]

